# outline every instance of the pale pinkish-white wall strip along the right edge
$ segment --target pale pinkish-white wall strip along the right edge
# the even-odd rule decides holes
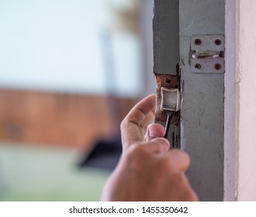
[[[256,1],[237,1],[237,200],[256,201]]]

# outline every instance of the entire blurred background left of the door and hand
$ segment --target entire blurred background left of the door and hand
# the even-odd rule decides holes
[[[150,0],[0,1],[0,201],[98,201],[154,93]]]

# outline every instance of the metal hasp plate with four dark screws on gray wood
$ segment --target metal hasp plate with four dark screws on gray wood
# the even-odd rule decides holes
[[[222,35],[197,35],[191,37],[191,71],[202,74],[225,72],[225,38]]]

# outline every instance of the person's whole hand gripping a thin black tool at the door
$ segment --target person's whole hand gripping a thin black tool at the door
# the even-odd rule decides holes
[[[135,105],[121,124],[123,154],[102,191],[102,201],[197,201],[185,171],[189,156],[169,150],[154,121],[155,96]]]

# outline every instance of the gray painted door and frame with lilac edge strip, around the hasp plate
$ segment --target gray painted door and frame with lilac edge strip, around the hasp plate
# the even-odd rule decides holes
[[[187,175],[201,201],[235,199],[235,2],[154,0],[154,72],[177,74],[179,62],[180,143],[191,157]],[[224,74],[192,72],[191,40],[195,35],[225,36]]]

